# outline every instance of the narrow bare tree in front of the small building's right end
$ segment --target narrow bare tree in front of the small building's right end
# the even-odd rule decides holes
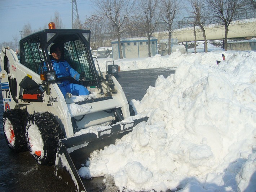
[[[158,18],[156,18],[155,10],[157,8],[158,0],[140,0],[139,1],[139,9],[144,14],[144,18],[146,21],[146,29],[147,29],[147,43],[149,49],[149,57],[151,57],[151,50],[150,50],[150,38],[155,32],[155,28],[158,23]]]

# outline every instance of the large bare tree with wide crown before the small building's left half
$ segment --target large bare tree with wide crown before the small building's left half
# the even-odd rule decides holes
[[[120,59],[123,59],[121,49],[121,33],[123,30],[123,24],[131,14],[135,1],[134,0],[98,0],[97,6],[100,13],[109,18],[114,27],[118,37],[118,47],[120,53]]]

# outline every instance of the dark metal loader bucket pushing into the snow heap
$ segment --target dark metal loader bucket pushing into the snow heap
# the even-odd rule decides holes
[[[116,139],[122,138],[131,132],[133,127],[142,121],[147,121],[148,117],[136,119],[133,122],[125,122],[111,126],[99,137],[94,133],[87,133],[68,139],[59,140],[58,151],[54,167],[55,175],[65,181],[76,191],[103,191],[103,177],[82,179],[78,174],[81,164],[85,163],[90,153],[96,149],[103,149],[105,146],[114,144]]]

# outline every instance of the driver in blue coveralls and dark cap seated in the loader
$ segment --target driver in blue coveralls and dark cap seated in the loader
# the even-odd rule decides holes
[[[80,76],[73,68],[70,67],[69,63],[61,59],[61,46],[54,44],[50,47],[50,57],[53,66],[53,70],[56,71],[57,78],[60,77],[73,77],[76,81],[85,81],[85,77]],[[69,80],[63,80],[57,82],[59,89],[66,98],[70,98],[72,95],[89,95],[89,91],[79,84],[70,83]]]

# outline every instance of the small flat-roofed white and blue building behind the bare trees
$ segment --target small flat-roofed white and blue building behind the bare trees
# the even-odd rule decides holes
[[[113,60],[119,59],[120,53],[118,49],[118,40],[112,41],[111,44]],[[123,38],[121,39],[121,48],[123,58],[146,58],[149,56],[148,41],[146,37]],[[155,37],[150,39],[150,52],[151,56],[158,53],[157,39],[155,39]]]

